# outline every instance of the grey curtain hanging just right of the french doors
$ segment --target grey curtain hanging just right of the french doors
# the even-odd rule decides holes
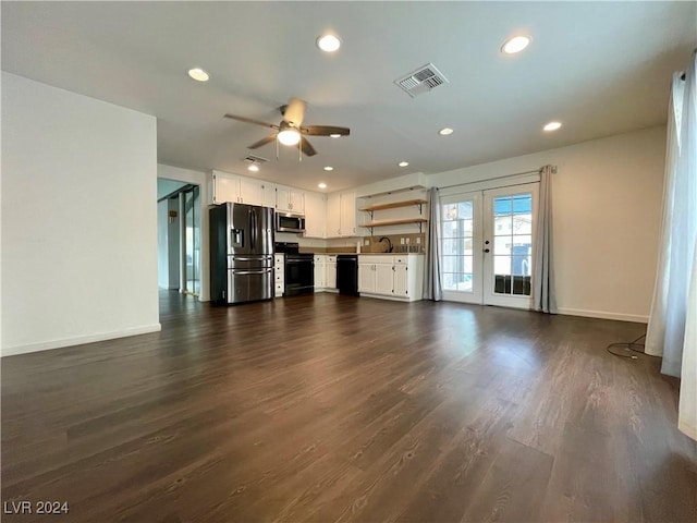
[[[552,264],[552,166],[540,169],[540,194],[533,257],[533,303],[535,311],[557,314]]]

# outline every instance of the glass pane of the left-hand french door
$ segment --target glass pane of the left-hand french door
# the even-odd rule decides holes
[[[443,289],[473,292],[474,202],[441,207],[441,262]]]

